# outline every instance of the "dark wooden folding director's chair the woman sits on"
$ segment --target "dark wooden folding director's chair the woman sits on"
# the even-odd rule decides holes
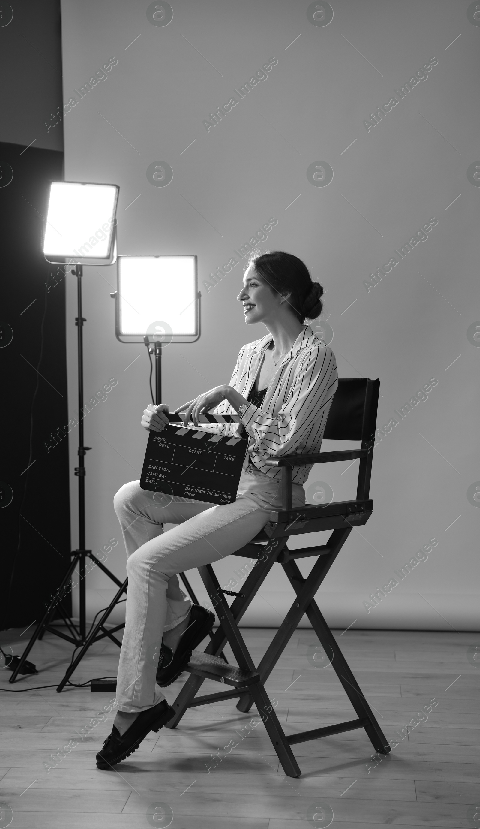
[[[313,598],[353,527],[366,524],[373,511],[373,502],[368,495],[379,390],[380,380],[378,379],[371,381],[367,377],[342,378],[338,381],[337,391],[328,412],[323,437],[327,440],[361,440],[360,449],[288,455],[282,458],[272,458],[269,461],[270,466],[279,467],[282,470],[282,509],[271,511],[270,520],[264,530],[259,532],[249,544],[233,553],[233,555],[256,558],[257,562],[245,581],[242,593],[236,595],[231,607],[225,599],[225,593],[228,594],[230,591],[221,589],[212,566],[205,565],[198,568],[211,602],[216,608],[220,626],[204,653],[200,651],[192,653],[192,659],[186,668],[191,676],[172,705],[176,710],[176,715],[167,724],[167,728],[175,728],[182,720],[187,708],[208,705],[238,696],[240,700],[236,706],[237,710],[246,712],[252,705],[256,705],[288,777],[299,777],[301,774],[291,746],[310,739],[364,728],[376,751],[381,754],[388,754],[391,751],[380,725],[372,714],[365,696],[361,693],[336,639],[333,638]],[[307,505],[301,509],[292,508],[292,469],[294,466],[306,463],[346,461],[353,458],[360,458],[354,501],[332,502],[323,507]],[[324,530],[333,530],[327,544],[303,547],[300,550],[288,550],[287,541],[290,536]],[[310,556],[315,556],[317,560],[308,577],[304,579],[295,560]],[[241,636],[238,623],[274,564],[282,565],[284,568],[296,599],[259,666],[255,667]],[[264,683],[298,627],[303,613],[307,614],[323,649],[328,655],[332,653],[332,667],[342,682],[358,719],[287,736],[270,704]],[[230,644],[238,667],[225,664],[219,657],[226,642]],[[196,696],[206,679],[232,686],[232,690]]]

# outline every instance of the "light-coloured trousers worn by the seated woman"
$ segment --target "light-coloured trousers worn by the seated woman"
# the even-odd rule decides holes
[[[292,491],[293,507],[303,507],[303,487],[293,484]],[[171,500],[141,489],[139,481],[120,487],[114,509],[128,556],[128,594],[117,677],[119,710],[143,711],[165,699],[155,681],[163,631],[181,623],[192,606],[177,573],[240,550],[263,530],[270,510],[281,506],[281,482],[255,467],[242,471],[231,504]],[[162,524],[177,526],[164,532]]]

